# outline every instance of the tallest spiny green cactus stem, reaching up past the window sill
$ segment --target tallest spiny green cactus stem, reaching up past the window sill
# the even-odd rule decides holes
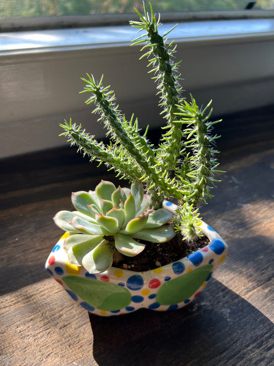
[[[163,108],[162,113],[165,114],[165,118],[169,121],[168,132],[163,135],[162,144],[157,153],[161,161],[159,169],[170,171],[177,163],[181,151],[180,142],[182,138],[181,123],[174,123],[178,121],[176,116],[178,111],[177,104],[183,100],[180,96],[181,86],[177,81],[180,76],[177,73],[178,63],[172,61],[172,55],[175,53],[176,47],[172,49],[172,43],[168,45],[167,41],[158,33],[160,20],[159,18],[156,19],[152,6],[150,14],[145,6],[144,15],[138,11],[136,12],[140,16],[140,21],[131,21],[130,24],[133,27],[139,28],[139,30],[144,30],[145,34],[134,40],[133,44],[145,42],[141,51],[149,48],[147,53],[141,58],[149,58],[149,66],[152,66],[151,72],[156,75],[153,79],[158,82],[159,106]],[[167,33],[164,36],[166,35]]]

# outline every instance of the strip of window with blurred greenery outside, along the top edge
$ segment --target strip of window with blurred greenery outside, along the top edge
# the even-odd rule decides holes
[[[148,3],[148,2],[146,2]],[[273,0],[150,0],[155,12],[274,9]],[[142,11],[142,0],[0,0],[1,18],[90,15]]]

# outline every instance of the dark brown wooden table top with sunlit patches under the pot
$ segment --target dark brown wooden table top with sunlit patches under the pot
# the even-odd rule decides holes
[[[70,193],[113,179],[73,148],[1,162],[0,364],[54,366],[274,363],[274,108],[225,118],[222,182],[202,208],[229,255],[189,306],[90,316],[44,270]],[[272,338],[271,338],[272,337]]]

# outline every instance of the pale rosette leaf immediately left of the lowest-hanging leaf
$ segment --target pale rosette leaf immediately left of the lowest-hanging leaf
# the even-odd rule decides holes
[[[82,266],[83,257],[87,253],[92,251],[95,247],[97,247],[98,244],[102,241],[102,239],[103,237],[98,235],[93,238],[90,238],[89,240],[82,241],[78,244],[71,246],[67,251],[69,263],[76,266]]]

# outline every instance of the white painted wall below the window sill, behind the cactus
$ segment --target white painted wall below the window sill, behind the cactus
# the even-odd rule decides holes
[[[274,103],[272,28],[222,37],[175,34],[175,39],[186,95],[191,92],[204,105],[213,99],[215,115]],[[155,84],[147,74],[147,60],[138,61],[140,55],[139,47],[126,41],[2,51],[0,157],[66,144],[58,136],[64,118],[103,137],[92,107],[84,103],[87,94],[79,94],[84,86],[80,77],[86,72],[98,79],[104,74],[104,84],[115,90],[120,109],[129,118],[134,112],[141,127],[162,125]]]

